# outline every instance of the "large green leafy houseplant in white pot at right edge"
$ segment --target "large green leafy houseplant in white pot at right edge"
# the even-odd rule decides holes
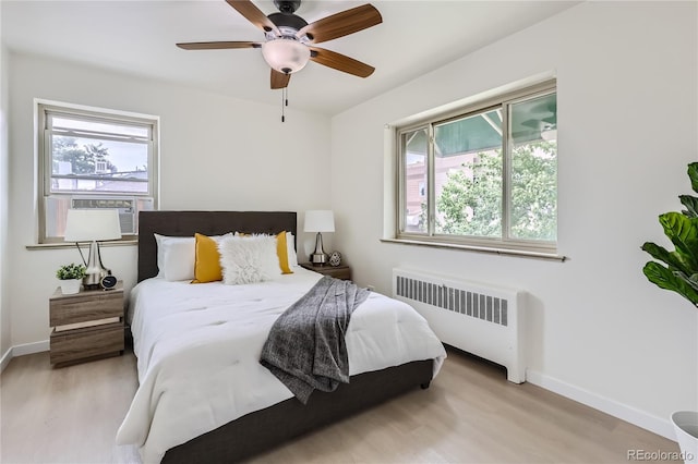
[[[698,162],[688,164],[688,178],[691,188],[698,193]],[[674,251],[646,242],[642,249],[657,260],[647,262],[642,272],[650,282],[676,292],[698,306],[698,197],[679,195],[678,199],[685,210],[659,217]],[[698,462],[698,412],[677,411],[671,415],[671,422],[684,462]]]

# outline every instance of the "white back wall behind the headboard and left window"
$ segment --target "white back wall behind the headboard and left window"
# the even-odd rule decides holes
[[[4,292],[13,346],[48,339],[55,271],[80,260],[75,248],[26,248],[37,223],[34,98],[159,115],[163,209],[292,210],[302,220],[303,210],[330,206],[327,117],[291,108],[281,123],[278,107],[15,53],[10,85],[12,272]],[[105,247],[103,259],[133,285],[135,246]]]

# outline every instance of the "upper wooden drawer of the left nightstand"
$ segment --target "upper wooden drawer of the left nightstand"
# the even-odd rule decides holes
[[[108,290],[51,298],[49,326],[99,320],[109,317],[123,317],[123,291]]]

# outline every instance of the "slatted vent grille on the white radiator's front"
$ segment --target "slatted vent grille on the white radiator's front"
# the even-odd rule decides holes
[[[397,276],[397,295],[500,326],[507,326],[507,301],[445,284]]]

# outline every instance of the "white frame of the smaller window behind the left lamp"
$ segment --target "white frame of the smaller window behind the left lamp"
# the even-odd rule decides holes
[[[62,236],[47,235],[47,200],[49,198],[70,199],[72,197],[97,197],[99,199],[122,200],[123,198],[135,198],[136,204],[148,204],[148,209],[158,209],[159,197],[159,117],[135,112],[111,110],[106,108],[87,107],[52,100],[35,99],[36,114],[36,139],[37,139],[37,211],[38,211],[38,243],[60,244],[65,243]],[[52,179],[52,154],[51,154],[51,129],[49,127],[50,115],[65,115],[85,121],[96,121],[106,123],[118,123],[127,125],[147,126],[149,132],[148,148],[148,180],[147,192],[51,192]],[[81,136],[82,134],[76,134]],[[99,137],[96,137],[98,139]],[[104,137],[107,139],[107,137]],[[137,212],[135,220],[137,224]],[[121,241],[133,241],[137,239],[137,231],[134,234],[124,234]]]

